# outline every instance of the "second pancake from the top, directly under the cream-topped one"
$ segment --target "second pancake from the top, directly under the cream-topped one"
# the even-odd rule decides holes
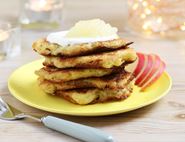
[[[114,58],[113,58],[114,57]],[[132,63],[137,59],[136,52],[132,49],[120,49],[112,52],[104,52],[96,55],[61,58],[45,57],[44,66],[57,68],[112,68],[123,63]]]

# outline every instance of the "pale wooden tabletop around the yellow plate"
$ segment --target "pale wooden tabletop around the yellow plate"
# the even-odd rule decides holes
[[[120,23],[121,25],[121,23]],[[113,135],[118,142],[184,142],[185,141],[185,41],[149,40],[129,34],[121,36],[134,41],[136,51],[156,53],[167,64],[173,86],[167,96],[157,103],[123,114],[101,117],[76,117],[51,114],[29,107],[12,97],[7,88],[10,74],[18,67],[40,58],[31,44],[44,32],[23,31],[21,56],[0,62],[0,95],[17,109],[32,115],[54,115],[66,120],[93,126]],[[10,142],[75,142],[69,136],[45,128],[42,124],[25,119],[0,120],[0,141]]]

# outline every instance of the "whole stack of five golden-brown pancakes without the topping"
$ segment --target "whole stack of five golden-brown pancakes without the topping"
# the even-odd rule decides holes
[[[137,58],[130,44],[118,38],[64,47],[38,40],[33,49],[45,57],[36,71],[39,86],[81,105],[126,99],[134,77],[124,68]]]

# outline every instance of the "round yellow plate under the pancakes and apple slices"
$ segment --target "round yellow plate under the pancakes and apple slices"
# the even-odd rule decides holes
[[[34,71],[41,67],[42,60],[38,60],[17,69],[8,81],[11,94],[29,106],[67,115],[100,116],[128,112],[156,102],[167,94],[172,85],[170,76],[165,72],[144,92],[135,87],[131,96],[124,101],[80,106],[57,96],[45,94],[39,88],[37,76],[34,74]]]

